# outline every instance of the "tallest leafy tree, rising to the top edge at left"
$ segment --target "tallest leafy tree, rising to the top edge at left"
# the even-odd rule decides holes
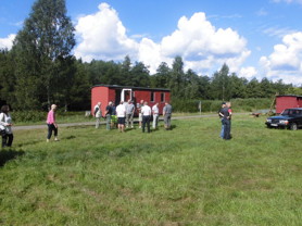
[[[20,68],[16,71],[20,109],[37,108],[43,101],[50,105],[54,101],[55,85],[64,80],[64,74],[56,76],[62,65],[58,61],[68,61],[74,46],[74,27],[66,16],[65,0],[37,0],[13,45]]]

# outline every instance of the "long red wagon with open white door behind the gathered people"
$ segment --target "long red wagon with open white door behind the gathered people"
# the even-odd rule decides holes
[[[169,102],[169,89],[129,87],[116,85],[96,85],[91,88],[91,113],[98,102],[101,102],[101,110],[104,114],[105,108],[110,101],[118,105],[121,101],[133,100],[138,106],[141,100],[147,101],[152,108],[159,103],[160,114],[163,113],[165,102]]]

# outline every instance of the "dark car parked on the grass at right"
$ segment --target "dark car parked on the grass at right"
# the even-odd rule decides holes
[[[302,108],[286,109],[280,115],[267,117],[267,128],[289,128],[297,130],[302,127]]]

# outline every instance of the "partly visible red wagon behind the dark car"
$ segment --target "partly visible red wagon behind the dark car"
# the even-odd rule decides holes
[[[280,95],[276,97],[276,113],[280,114],[285,109],[302,108],[302,96]]]

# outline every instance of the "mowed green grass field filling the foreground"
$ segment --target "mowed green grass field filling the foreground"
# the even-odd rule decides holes
[[[151,134],[60,128],[50,143],[46,129],[15,131],[0,225],[301,225],[302,129],[264,121],[235,116],[229,141],[214,117]]]

